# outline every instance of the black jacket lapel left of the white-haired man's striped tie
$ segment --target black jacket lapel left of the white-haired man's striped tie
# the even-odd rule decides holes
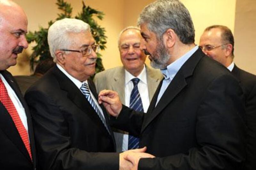
[[[57,66],[53,68],[53,74],[57,77],[57,80],[60,82],[60,88],[67,92],[68,98],[78,107],[80,108],[84,114],[87,114],[91,120],[100,125],[100,129],[102,129],[105,134],[108,134],[104,124],[101,122],[99,116],[95,112],[92,105],[85,98],[83,93],[77,88],[77,86],[64,74],[62,73]],[[63,83],[65,82],[65,83]],[[89,81],[88,81],[89,82]],[[89,85],[90,89],[91,86]],[[94,97],[97,97],[97,95]]]

